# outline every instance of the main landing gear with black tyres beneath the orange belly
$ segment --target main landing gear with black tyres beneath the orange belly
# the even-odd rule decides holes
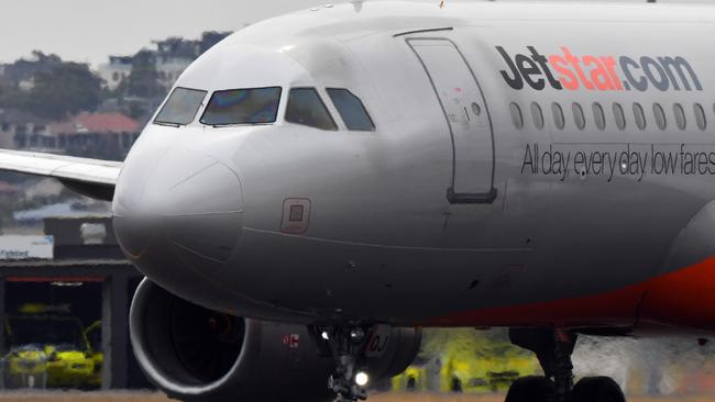
[[[537,355],[544,377],[516,380],[506,402],[626,402],[620,387],[608,377],[587,377],[573,384],[571,354],[578,335],[552,328],[513,328],[514,345]]]

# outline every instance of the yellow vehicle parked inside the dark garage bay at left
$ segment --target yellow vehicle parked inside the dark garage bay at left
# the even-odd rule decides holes
[[[4,378],[10,387],[32,388],[40,383],[47,388],[89,389],[101,384],[98,371],[103,356],[92,351],[78,319],[11,316],[6,319],[6,332],[11,351],[6,357]]]

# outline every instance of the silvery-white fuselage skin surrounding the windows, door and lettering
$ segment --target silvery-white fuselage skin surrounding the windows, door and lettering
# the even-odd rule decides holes
[[[217,259],[213,266],[179,275],[178,269],[139,261],[166,289],[216,310],[300,322],[529,323],[522,316],[497,323],[483,322],[479,314],[474,322],[449,317],[605,293],[684,267],[668,266],[666,259],[689,220],[715,197],[715,187],[705,185],[708,175],[615,175],[608,181],[606,174],[580,178],[574,170],[562,180],[562,175],[521,170],[527,145],[534,144],[544,149],[568,143],[588,152],[616,152],[628,144],[713,144],[712,130],[698,130],[691,111],[698,102],[707,108],[707,118],[715,118],[715,82],[708,74],[714,66],[702,53],[703,41],[713,33],[713,10],[565,3],[439,9],[388,2],[268,20],[208,52],[176,86],[209,93],[279,86],[277,122],[213,129],[198,122],[199,110],[187,126],[150,124],[127,158],[113,212],[232,215],[226,220],[226,230],[233,232],[230,241],[195,249]],[[433,29],[452,30],[409,33]],[[470,76],[457,81],[464,92],[454,97],[469,115],[454,118],[455,124],[471,131],[455,139],[462,158],[457,186],[488,192],[493,172],[492,202],[451,203],[447,198],[452,182],[449,126],[416,57],[444,41],[461,51],[480,85],[470,83]],[[496,46],[512,56],[528,54],[527,46],[547,54],[568,46],[579,56],[680,56],[695,69],[704,90],[513,90],[501,77],[508,67]],[[453,59],[446,62],[441,67],[452,74],[465,70]],[[318,89],[339,131],[283,120],[289,89],[301,87]],[[326,88],[348,88],[361,98],[376,130],[348,131]],[[532,101],[543,109],[543,130],[531,122]],[[513,124],[510,102],[522,109],[524,130]],[[565,130],[554,126],[552,102],[564,109]],[[572,102],[585,109],[585,130],[574,125]],[[594,125],[594,102],[605,110],[605,131]],[[615,126],[613,102],[627,113],[626,130]],[[646,131],[636,127],[634,102],[648,112]],[[653,102],[666,108],[671,130],[656,126]],[[472,112],[472,103],[483,110],[481,115]],[[685,131],[674,127],[673,103],[686,108]],[[207,166],[212,167],[205,170]],[[299,234],[282,232],[284,201],[290,199],[309,200],[309,223]],[[639,299],[629,298],[617,312],[542,319],[632,326]]]

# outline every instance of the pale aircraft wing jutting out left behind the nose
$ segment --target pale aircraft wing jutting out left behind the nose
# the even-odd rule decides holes
[[[73,191],[111,201],[121,161],[0,149],[0,170],[53,177]]]

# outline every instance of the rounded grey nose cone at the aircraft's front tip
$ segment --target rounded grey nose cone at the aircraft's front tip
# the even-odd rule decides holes
[[[176,265],[210,273],[232,255],[243,225],[238,175],[185,149],[129,158],[112,209],[122,249],[146,275]]]

